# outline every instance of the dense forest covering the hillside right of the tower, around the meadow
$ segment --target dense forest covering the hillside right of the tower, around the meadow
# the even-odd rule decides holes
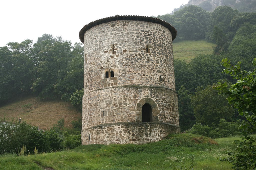
[[[172,23],[178,30],[175,41],[206,39],[216,43],[213,54],[198,55],[190,63],[175,60],[176,93],[178,94],[181,130],[193,124],[217,129],[223,119],[228,122],[241,119],[237,110],[228,107],[225,96],[212,89],[217,82],[234,82],[231,76],[221,73],[221,59],[232,64],[241,61],[242,69],[253,70],[256,57],[256,13],[240,13],[229,6],[219,6],[213,12],[190,5],[174,15],[158,18]],[[174,41],[174,43],[175,43]],[[214,132],[214,135],[220,135]]]

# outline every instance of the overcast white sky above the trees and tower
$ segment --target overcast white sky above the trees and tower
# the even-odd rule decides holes
[[[80,42],[80,29],[94,20],[117,14],[164,15],[188,1],[3,0],[0,3],[0,47],[25,39],[35,43],[45,33],[62,36],[74,44]]]

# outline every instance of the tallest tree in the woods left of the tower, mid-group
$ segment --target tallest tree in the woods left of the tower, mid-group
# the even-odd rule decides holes
[[[67,66],[72,60],[72,46],[70,41],[63,41],[61,37],[43,37],[39,37],[38,42],[34,44],[39,64],[32,90],[42,99],[53,99],[57,97],[54,86],[58,79],[66,75]]]

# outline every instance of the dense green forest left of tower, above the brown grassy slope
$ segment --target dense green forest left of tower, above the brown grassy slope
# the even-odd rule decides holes
[[[45,34],[32,44],[24,40],[0,48],[0,103],[28,94],[70,101],[76,90],[83,89],[82,43],[72,46],[61,37]],[[76,99],[72,104],[80,107]]]

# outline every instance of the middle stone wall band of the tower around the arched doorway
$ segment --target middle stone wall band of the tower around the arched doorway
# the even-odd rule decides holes
[[[152,99],[151,103],[145,102],[145,98]],[[102,123],[141,122],[141,108],[145,103],[153,106],[153,121],[179,125],[177,95],[173,90],[127,86],[95,90],[85,95],[83,129]]]

